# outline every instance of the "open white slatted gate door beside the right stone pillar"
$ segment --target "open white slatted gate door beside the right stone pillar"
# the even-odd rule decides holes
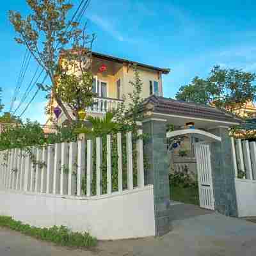
[[[195,144],[200,207],[214,210],[210,145]]]

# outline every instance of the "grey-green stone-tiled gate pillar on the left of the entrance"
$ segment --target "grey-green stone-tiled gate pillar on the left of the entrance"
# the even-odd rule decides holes
[[[148,134],[145,154],[148,170],[145,184],[154,185],[156,235],[170,231],[170,187],[168,178],[168,154],[166,147],[166,120],[149,119],[143,122],[143,132]]]

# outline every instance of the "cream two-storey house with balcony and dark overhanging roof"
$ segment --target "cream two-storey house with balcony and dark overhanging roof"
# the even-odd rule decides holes
[[[116,108],[118,103],[123,101],[123,95],[126,100],[129,99],[128,95],[133,90],[129,81],[134,80],[134,70],[132,68],[134,64],[137,65],[141,80],[143,81],[141,97],[147,98],[153,94],[163,96],[162,75],[168,74],[170,72],[169,68],[153,67],[136,61],[92,52],[93,90],[98,94],[98,97],[95,98],[97,104],[94,104],[93,108],[86,109],[87,113],[102,116],[108,109]],[[102,65],[106,67],[104,72],[99,71]],[[50,115],[47,124],[51,124],[51,120],[54,118],[53,109],[55,106],[56,102],[51,99]],[[62,113],[60,118],[58,118],[58,124],[62,124],[64,121],[65,115]]]

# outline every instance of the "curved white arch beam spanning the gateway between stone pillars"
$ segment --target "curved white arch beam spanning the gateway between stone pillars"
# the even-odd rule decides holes
[[[205,132],[198,129],[182,129],[182,130],[167,132],[166,137],[172,138],[175,136],[182,136],[185,134],[195,134],[195,138],[198,138],[207,142],[221,141],[221,138],[219,136],[216,136],[210,132]]]

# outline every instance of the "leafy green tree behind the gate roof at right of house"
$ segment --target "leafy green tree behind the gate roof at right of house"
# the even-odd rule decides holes
[[[181,86],[176,99],[214,104],[228,111],[240,109],[256,99],[256,74],[236,68],[212,68],[209,77],[195,77],[191,84]]]

